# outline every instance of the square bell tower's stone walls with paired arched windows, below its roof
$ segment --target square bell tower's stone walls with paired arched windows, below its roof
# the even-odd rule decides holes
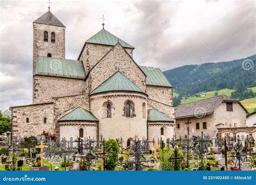
[[[48,42],[44,41],[44,31],[48,32]],[[55,32],[55,43],[51,42],[51,32]],[[33,74],[37,56],[65,58],[65,27],[33,23]]]

